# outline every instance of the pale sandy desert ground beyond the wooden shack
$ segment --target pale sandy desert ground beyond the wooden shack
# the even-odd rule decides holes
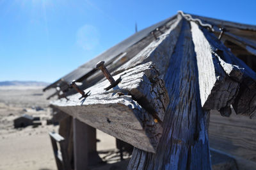
[[[48,133],[58,132],[58,126],[46,125],[51,118],[49,101],[54,91],[43,87],[0,87],[0,169],[56,169]],[[35,107],[44,110],[36,111]],[[22,114],[40,116],[42,125],[33,128],[13,128],[13,120]],[[115,138],[97,130],[97,150],[115,148]]]

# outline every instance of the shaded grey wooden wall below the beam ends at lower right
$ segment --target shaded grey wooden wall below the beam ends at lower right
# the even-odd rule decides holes
[[[211,148],[256,162],[256,119],[238,116],[234,110],[229,118],[211,111],[209,143]]]

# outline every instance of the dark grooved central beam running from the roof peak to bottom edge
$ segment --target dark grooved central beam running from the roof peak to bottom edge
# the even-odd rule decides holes
[[[159,56],[159,61],[162,58]],[[128,169],[211,169],[207,112],[202,109],[197,77],[190,27],[183,21],[168,70],[164,71],[171,102],[156,154],[134,148]]]

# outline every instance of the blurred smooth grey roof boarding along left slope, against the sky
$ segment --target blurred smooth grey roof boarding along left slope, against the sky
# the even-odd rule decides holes
[[[152,42],[154,40],[154,36],[152,36],[150,33],[152,31],[156,32],[156,36],[158,36],[160,31],[156,31],[157,28],[160,28],[161,31],[163,29],[168,29],[170,25],[172,24],[173,20],[176,20],[176,15],[173,17],[170,17],[168,19],[165,19],[161,22],[158,22],[157,24],[154,24],[153,26],[147,27],[145,29],[142,29],[138,33],[135,33],[134,35],[130,36],[129,38],[125,39],[124,41],[116,44],[115,46],[111,47],[110,49],[106,50],[96,58],[88,61],[84,65],[79,66],[76,70],[68,73],[58,81],[54,82],[53,84],[47,86],[44,88],[44,91],[49,88],[56,87],[57,84],[60,84],[61,89],[67,89],[65,87],[65,82],[71,82],[74,79],[77,81],[83,81],[84,79],[91,77],[93,73],[95,73],[97,70],[95,69],[94,65],[96,65],[99,61],[104,60],[106,62],[106,66],[112,65],[115,63],[116,59],[119,59],[120,56],[127,53],[127,56],[124,56],[121,61],[122,63],[127,61],[127,59],[130,59],[134,56],[134,54],[137,54],[141,47],[145,47],[148,43]],[[115,65],[115,64],[114,64]],[[94,75],[93,75],[94,77]],[[63,81],[64,80],[64,81]],[[98,80],[99,81],[99,80]],[[97,82],[97,81],[96,81]],[[92,83],[92,81],[90,81]],[[86,85],[85,85],[86,86]],[[86,86],[88,88],[88,86]],[[68,91],[70,92],[70,91]]]

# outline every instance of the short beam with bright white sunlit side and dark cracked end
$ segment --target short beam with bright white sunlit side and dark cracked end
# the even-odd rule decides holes
[[[195,22],[190,22],[198,66],[200,99],[204,109],[230,106],[236,98],[243,70],[225,63],[212,52],[212,47]],[[232,80],[235,77],[237,81]]]

